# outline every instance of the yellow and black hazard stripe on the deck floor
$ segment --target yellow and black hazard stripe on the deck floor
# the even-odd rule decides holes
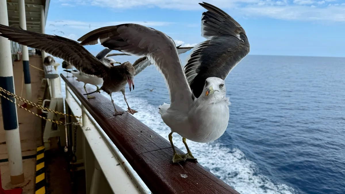
[[[44,151],[45,151],[44,146],[37,147],[35,194],[46,193],[46,168],[45,168]]]

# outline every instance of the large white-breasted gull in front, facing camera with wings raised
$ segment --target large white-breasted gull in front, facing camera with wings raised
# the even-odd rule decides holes
[[[201,19],[201,34],[207,40],[194,47],[185,71],[174,40],[153,28],[127,23],[93,30],[78,40],[82,41],[81,45],[95,45],[100,39],[106,48],[147,56],[159,68],[170,95],[170,105],[160,105],[159,113],[171,128],[172,163],[195,160],[186,138],[208,143],[223,135],[229,122],[230,104],[224,79],[250,50],[246,33],[239,23],[211,4],[199,4],[208,10]],[[200,93],[198,98],[194,91]],[[183,137],[187,154],[176,153],[172,143],[174,132]]]

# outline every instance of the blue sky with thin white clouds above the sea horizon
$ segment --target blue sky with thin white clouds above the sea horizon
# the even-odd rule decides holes
[[[201,37],[195,0],[52,0],[46,33],[77,40],[104,26],[139,23],[165,32],[177,45]],[[210,0],[245,29],[249,55],[345,57],[345,0]],[[62,31],[63,33],[59,32]],[[97,54],[103,47],[86,47]]]

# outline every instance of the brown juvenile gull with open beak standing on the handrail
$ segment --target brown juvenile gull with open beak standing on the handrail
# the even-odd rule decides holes
[[[135,69],[129,62],[125,62],[118,66],[107,67],[77,41],[56,35],[52,36],[39,32],[12,28],[1,24],[0,36],[24,46],[46,51],[54,57],[59,57],[69,62],[76,67],[77,70],[85,74],[103,78],[101,89],[110,95],[113,105],[114,100],[111,97],[112,92],[122,89],[126,82],[128,82],[130,91],[132,86],[134,89],[133,77]],[[115,105],[114,109],[113,115],[122,115],[124,113],[117,111]]]

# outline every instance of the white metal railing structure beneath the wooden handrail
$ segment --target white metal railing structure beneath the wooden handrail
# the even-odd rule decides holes
[[[49,67],[45,67],[46,72],[47,68]],[[57,72],[54,73],[57,74]],[[75,149],[76,153],[74,154],[77,158],[77,160],[74,161],[74,163],[71,162],[71,164],[84,164],[83,167],[79,167],[77,170],[85,169],[87,194],[151,193],[125,157],[98,125],[96,120],[93,119],[88,110],[83,107],[67,84],[65,84],[66,98],[63,100],[61,93],[62,79],[60,76],[56,78],[46,78],[46,80],[49,85],[51,99],[43,100],[43,106],[45,102],[50,101],[49,108],[82,117],[81,119],[73,117],[66,118],[68,123],[80,122],[79,125],[77,125],[76,137],[73,133],[72,136],[67,135],[67,132],[70,133],[71,130],[74,130],[75,126],[61,126],[58,130],[53,130],[52,123],[47,122],[43,134],[46,150],[49,149],[50,146],[50,137],[60,136],[60,143],[62,146],[68,145],[66,144],[66,139],[70,141],[69,145],[73,146],[68,149]],[[65,101],[65,111],[63,111],[63,101]],[[48,113],[47,117],[50,119],[61,118],[58,115],[54,118],[53,113]],[[76,148],[74,148],[74,145],[76,145]]]

